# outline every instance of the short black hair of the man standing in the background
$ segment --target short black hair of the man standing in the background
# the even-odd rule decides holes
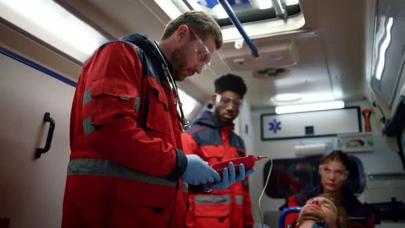
[[[238,93],[241,98],[246,94],[247,87],[244,80],[240,76],[235,76],[232,73],[221,76],[214,82],[215,92],[223,93],[224,91],[233,91]]]

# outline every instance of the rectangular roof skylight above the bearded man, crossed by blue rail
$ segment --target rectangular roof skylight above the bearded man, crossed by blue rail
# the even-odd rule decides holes
[[[217,0],[154,0],[154,3],[170,19],[189,10],[206,12],[220,25],[224,42],[242,38]],[[294,31],[305,25],[299,0],[228,0],[227,3],[251,38]]]

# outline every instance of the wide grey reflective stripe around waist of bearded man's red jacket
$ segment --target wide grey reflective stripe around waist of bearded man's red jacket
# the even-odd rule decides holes
[[[100,159],[71,160],[67,166],[67,175],[111,176],[156,185],[165,185],[168,187],[176,187],[177,185],[177,181],[169,181],[160,176],[150,176],[143,172],[126,168],[113,161]]]

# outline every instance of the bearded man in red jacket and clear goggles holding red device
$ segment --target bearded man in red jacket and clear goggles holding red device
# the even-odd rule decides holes
[[[182,150],[187,122],[177,112],[174,80],[201,73],[221,45],[216,21],[192,11],[170,21],[159,43],[129,34],[84,63],[71,111],[62,227],[184,227],[187,183],[213,183],[205,192],[251,173],[235,176],[229,168],[221,178]]]

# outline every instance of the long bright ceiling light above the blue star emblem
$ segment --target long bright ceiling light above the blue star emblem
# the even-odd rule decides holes
[[[323,102],[314,104],[298,104],[290,106],[278,106],[276,107],[277,114],[283,113],[301,113],[306,111],[319,111],[328,109],[342,109],[345,107],[345,102],[334,101],[334,102]]]

